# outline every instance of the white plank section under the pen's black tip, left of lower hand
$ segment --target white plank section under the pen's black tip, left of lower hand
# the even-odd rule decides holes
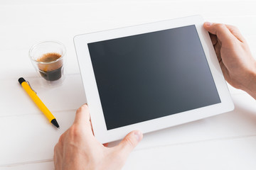
[[[58,139],[73,124],[75,111],[53,113],[60,129],[45,115],[10,116],[0,119],[0,166],[53,159]]]

